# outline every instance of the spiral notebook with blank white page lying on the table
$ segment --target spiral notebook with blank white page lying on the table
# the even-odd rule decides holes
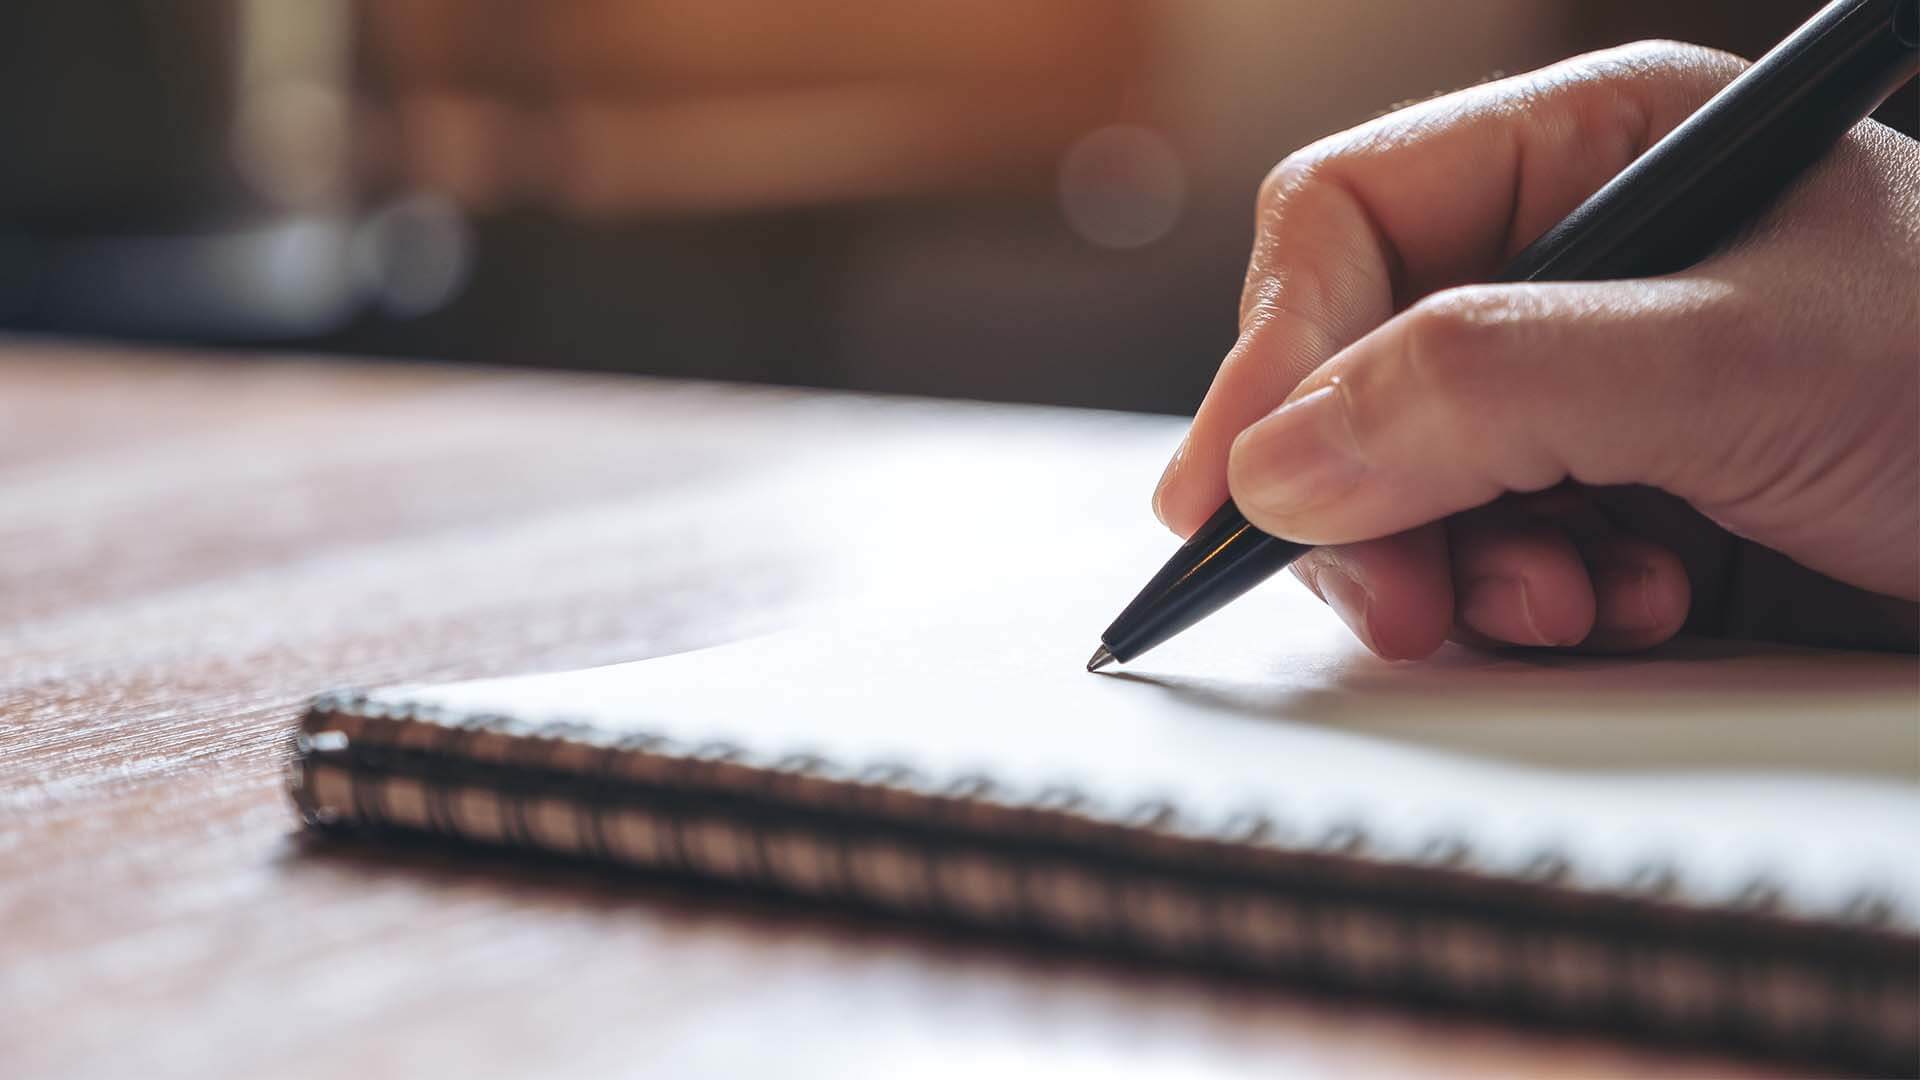
[[[1108,592],[1006,580],[676,657],[328,696],[294,798],[319,828],[1916,1065],[1914,657],[1388,665],[1275,582],[1089,675]]]

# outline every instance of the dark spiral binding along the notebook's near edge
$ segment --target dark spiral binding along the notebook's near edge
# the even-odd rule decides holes
[[[505,740],[493,763],[478,753],[478,740],[490,738]],[[1461,888],[1448,901],[1442,888],[1496,880],[1667,911],[1680,896],[1680,874],[1657,857],[1632,865],[1611,890],[1594,882],[1574,890],[1569,880],[1578,878],[1578,867],[1565,851],[1534,851],[1494,874],[1476,867],[1471,842],[1457,832],[1382,853],[1359,821],[1302,832],[1267,809],[1242,807],[1225,821],[1202,822],[1165,798],[1106,807],[1071,784],[1020,794],[991,776],[925,776],[900,761],[856,769],[812,753],[756,761],[732,742],[678,746],[645,732],[609,738],[564,721],[442,715],[351,696],[313,705],[294,736],[288,786],[301,817],[317,826],[536,847],[814,901],[1555,1020],[1611,1019],[1672,1034],[1711,1030],[1870,1068],[1905,1068],[1920,1057],[1920,990],[1910,965],[1908,976],[1885,976],[1889,965],[1866,978],[1857,967],[1807,963],[1793,951],[1759,959],[1716,953],[1684,934],[1592,930],[1571,919],[1501,922],[1478,909],[1473,892]],[[908,838],[808,817],[845,809],[849,799],[866,811],[899,809],[902,819],[945,813],[960,832]],[[755,809],[772,805],[797,809]],[[476,807],[488,813],[476,817]],[[1073,838],[1075,824],[1092,824],[1160,838],[1175,851],[1198,846],[1250,863],[1267,855],[1304,861],[1292,871],[1298,880],[1194,876],[1102,861],[1071,846],[1021,849],[995,846],[993,836],[968,840],[968,815],[993,813],[1031,815],[1043,838]],[[1296,840],[1302,836],[1306,842]],[[1438,892],[1382,892],[1365,874],[1329,876],[1331,884],[1313,876],[1338,867],[1428,874]],[[1755,876],[1724,907],[1753,919],[1778,917],[1782,890]],[[1887,930],[1895,911],[1891,897],[1862,890],[1830,920]],[[1905,945],[1905,938],[1899,942]],[[1912,953],[1912,945],[1905,947]]]

